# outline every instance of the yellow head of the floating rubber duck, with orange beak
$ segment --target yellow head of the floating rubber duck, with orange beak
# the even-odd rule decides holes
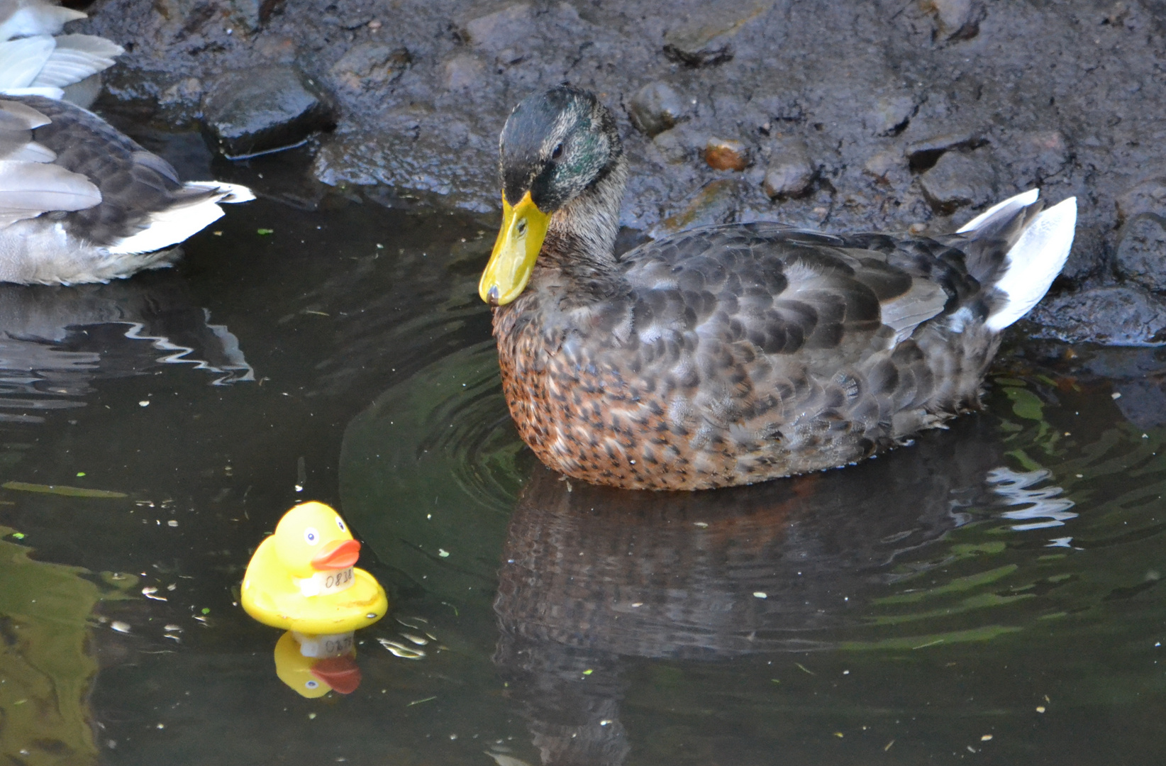
[[[347,569],[360,557],[340,514],[323,503],[303,503],[283,514],[275,527],[275,555],[295,577]]]

